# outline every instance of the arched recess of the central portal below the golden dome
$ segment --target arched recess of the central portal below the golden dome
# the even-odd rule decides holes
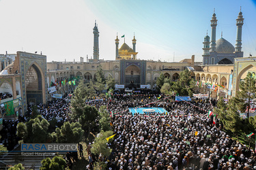
[[[136,65],[126,68],[126,88],[139,88],[141,84],[141,69]]]

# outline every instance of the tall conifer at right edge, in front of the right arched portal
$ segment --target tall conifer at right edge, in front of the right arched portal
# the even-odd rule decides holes
[[[255,99],[256,93],[256,80],[253,78],[252,73],[248,72],[244,81],[240,82],[240,90],[237,92],[234,101],[238,104],[238,109],[244,113],[247,109],[247,118],[249,118],[250,103]]]

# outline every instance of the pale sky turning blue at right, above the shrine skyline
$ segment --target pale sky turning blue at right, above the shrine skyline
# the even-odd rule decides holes
[[[100,59],[115,60],[115,39],[132,47],[137,58],[202,61],[203,38],[218,20],[216,39],[236,44],[236,18],[244,16],[242,51],[256,56],[256,0],[0,0],[0,54],[42,52],[47,61],[86,61],[93,57],[96,23]]]

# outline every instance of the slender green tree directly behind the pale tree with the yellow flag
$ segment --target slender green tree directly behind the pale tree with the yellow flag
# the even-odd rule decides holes
[[[102,131],[109,131],[111,130],[110,128],[110,116],[109,113],[106,110],[106,105],[102,105],[99,109],[99,114],[100,114],[100,130]]]

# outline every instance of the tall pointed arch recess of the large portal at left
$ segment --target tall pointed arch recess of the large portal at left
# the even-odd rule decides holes
[[[42,74],[35,64],[31,65],[27,70],[25,86],[27,92],[27,104],[35,105],[43,103]]]

